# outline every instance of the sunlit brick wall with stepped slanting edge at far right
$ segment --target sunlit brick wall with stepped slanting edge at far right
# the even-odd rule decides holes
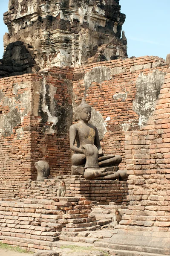
[[[170,73],[147,125],[128,131],[125,150],[130,200],[127,229],[170,231]]]

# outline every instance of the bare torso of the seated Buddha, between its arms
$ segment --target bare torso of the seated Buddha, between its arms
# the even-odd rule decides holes
[[[95,144],[95,126],[80,121],[76,124],[76,130],[76,142],[78,148],[86,144]]]

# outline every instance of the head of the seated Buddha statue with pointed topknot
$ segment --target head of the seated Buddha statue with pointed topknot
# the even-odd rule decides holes
[[[81,104],[78,106],[80,119],[84,122],[89,122],[91,118],[92,108],[86,103],[86,100],[83,98]]]

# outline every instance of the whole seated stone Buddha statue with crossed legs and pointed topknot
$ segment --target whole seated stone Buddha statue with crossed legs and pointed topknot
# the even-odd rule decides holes
[[[118,171],[122,157],[103,154],[98,130],[88,123],[91,118],[91,106],[84,98],[78,106],[78,111],[80,121],[70,126],[70,148],[75,152],[72,155],[72,175],[84,174],[86,180],[126,178],[126,172]]]

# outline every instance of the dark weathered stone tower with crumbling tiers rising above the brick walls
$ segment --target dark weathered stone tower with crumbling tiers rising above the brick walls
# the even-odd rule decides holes
[[[2,64],[36,72],[127,58],[120,9],[119,0],[9,0]]]

